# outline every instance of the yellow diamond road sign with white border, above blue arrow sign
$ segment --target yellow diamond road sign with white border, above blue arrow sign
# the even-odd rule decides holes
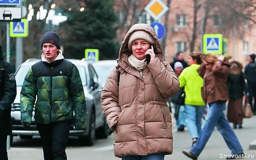
[[[155,20],[158,20],[168,10],[168,7],[161,0],[152,0],[146,7],[145,10]]]

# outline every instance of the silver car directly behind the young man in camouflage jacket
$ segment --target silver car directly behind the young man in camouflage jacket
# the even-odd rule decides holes
[[[17,83],[17,96],[12,104],[12,136],[20,136],[20,138],[32,138],[33,135],[39,135],[36,130],[36,123],[32,118],[30,127],[23,127],[20,120],[20,91],[24,78],[30,67],[40,59],[31,58],[22,63],[15,73]],[[100,102],[100,94],[102,84],[99,83],[98,75],[96,74],[92,64],[85,60],[69,59],[75,64],[79,70],[82,84],[84,86],[84,94],[86,97],[87,107],[87,126],[85,130],[75,130],[74,125],[70,129],[70,136],[78,136],[82,144],[92,146],[95,138],[107,138],[109,132],[106,118],[103,115]],[[34,115],[34,112],[33,112]],[[11,138],[12,139],[12,138]]]

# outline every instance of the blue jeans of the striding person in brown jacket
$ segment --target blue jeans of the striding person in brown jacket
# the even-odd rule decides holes
[[[209,107],[204,126],[199,134],[196,144],[190,149],[190,152],[199,156],[215,126],[224,138],[228,148],[231,150],[231,154],[239,154],[243,152],[243,148],[238,141],[234,130],[230,127],[230,124],[223,113],[226,109],[226,103],[214,102],[209,104]]]

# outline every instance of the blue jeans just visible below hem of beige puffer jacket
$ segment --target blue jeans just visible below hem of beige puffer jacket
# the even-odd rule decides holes
[[[164,160],[165,153],[148,154],[146,156],[124,156],[122,160]]]

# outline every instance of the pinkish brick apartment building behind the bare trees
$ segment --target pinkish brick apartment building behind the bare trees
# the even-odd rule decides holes
[[[115,10],[118,13],[122,27],[118,30],[118,40],[122,42],[124,35],[134,23],[150,24],[155,20],[144,10],[151,0],[116,0]],[[128,6],[128,3],[131,3]],[[135,3],[133,3],[135,2]],[[167,4],[167,0],[162,0]],[[127,4],[124,4],[127,3]],[[126,6],[126,8],[124,8]],[[127,11],[128,10],[128,11]],[[168,23],[166,28],[166,48],[165,58],[171,62],[175,53],[183,51],[185,58],[188,58],[190,44],[194,28],[194,17],[196,16],[196,39],[194,40],[194,51],[201,50],[201,10],[194,16],[193,0],[171,0],[168,22],[164,22],[162,16],[158,22]],[[205,11],[204,11],[205,12]],[[124,22],[125,21],[125,22]],[[206,21],[205,34],[222,34],[227,39],[227,54],[232,55],[234,60],[246,64],[246,57],[250,53],[256,52],[256,29],[244,21],[239,30],[236,28],[223,27],[224,18],[219,14],[212,14]]]

